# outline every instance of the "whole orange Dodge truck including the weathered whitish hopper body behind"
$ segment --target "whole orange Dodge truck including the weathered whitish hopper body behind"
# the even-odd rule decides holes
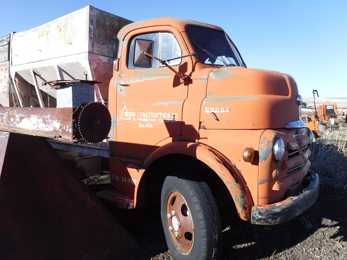
[[[7,37],[1,88],[16,107],[0,108],[3,133],[108,157],[112,188],[98,196],[123,208],[159,202],[177,260],[218,259],[223,201],[241,219],[265,225],[315,202],[313,134],[300,120],[289,74],[247,68],[217,26],[178,18],[120,29],[123,23],[130,21],[87,6]]]

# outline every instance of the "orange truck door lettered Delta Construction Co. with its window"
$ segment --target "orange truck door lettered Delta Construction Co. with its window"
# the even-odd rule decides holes
[[[167,28],[166,28],[167,29]],[[179,35],[180,37],[180,35]],[[170,65],[179,73],[187,73],[188,59],[180,58],[179,38],[172,32],[130,32],[124,41],[121,71],[118,77],[116,102],[116,155],[143,159],[146,154],[167,138],[181,136],[181,118],[187,86],[167,66],[139,52],[147,46],[162,60],[173,59]],[[125,47],[124,45],[127,46]],[[182,46],[182,45],[181,45]],[[143,47],[141,47],[143,48]],[[139,65],[139,59],[150,59]],[[191,69],[191,68],[190,68]]]

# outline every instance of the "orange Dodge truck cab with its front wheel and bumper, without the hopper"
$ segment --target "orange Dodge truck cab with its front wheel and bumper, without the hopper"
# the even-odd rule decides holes
[[[131,23],[117,41],[108,95],[112,189],[98,196],[123,208],[160,200],[175,259],[218,259],[221,199],[261,225],[288,221],[315,202],[313,134],[300,120],[289,74],[247,68],[222,28],[186,19]],[[83,124],[102,128],[93,116]]]

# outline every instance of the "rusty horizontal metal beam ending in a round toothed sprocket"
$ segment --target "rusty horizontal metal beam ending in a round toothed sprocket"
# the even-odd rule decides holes
[[[1,131],[65,141],[101,142],[109,133],[110,121],[107,108],[100,103],[82,105],[76,110],[72,107],[0,107]]]

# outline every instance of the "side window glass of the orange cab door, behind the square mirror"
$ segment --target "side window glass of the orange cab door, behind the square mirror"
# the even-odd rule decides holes
[[[134,64],[135,56],[138,53],[135,53],[136,40],[149,40],[153,42],[153,56],[158,57],[162,60],[170,60],[168,64],[170,66],[179,65],[181,63],[182,56],[181,49],[178,45],[178,42],[172,33],[167,32],[158,32],[158,33],[148,33],[137,35],[132,38],[129,45],[129,52],[127,57],[128,67],[130,69],[142,69],[143,66],[138,66]],[[138,58],[138,57],[136,57]],[[156,59],[152,59],[151,68],[164,67],[165,65],[160,64]]]

